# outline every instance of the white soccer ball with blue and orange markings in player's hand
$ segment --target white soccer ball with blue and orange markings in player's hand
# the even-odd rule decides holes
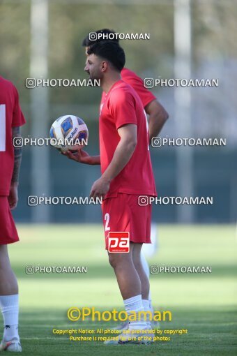
[[[51,144],[61,151],[73,150],[87,144],[89,131],[82,119],[75,115],[64,115],[52,124],[49,136]]]

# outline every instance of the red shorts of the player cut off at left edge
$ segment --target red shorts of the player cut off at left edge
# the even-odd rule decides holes
[[[19,241],[7,196],[0,196],[0,245]]]

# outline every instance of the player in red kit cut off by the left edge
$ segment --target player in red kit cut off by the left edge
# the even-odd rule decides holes
[[[17,187],[22,148],[13,146],[13,138],[20,137],[20,126],[25,123],[17,89],[0,77],[0,306],[4,333],[0,351],[21,352],[18,334],[18,285],[10,267],[8,244],[19,237],[10,212],[17,206]]]

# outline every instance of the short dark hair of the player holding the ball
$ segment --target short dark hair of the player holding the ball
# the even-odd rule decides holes
[[[107,59],[112,66],[119,72],[125,65],[125,53],[118,42],[112,40],[102,40],[94,43],[87,50],[87,54],[95,54],[95,56]]]

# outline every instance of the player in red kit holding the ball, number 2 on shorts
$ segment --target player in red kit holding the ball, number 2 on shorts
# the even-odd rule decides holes
[[[148,148],[148,127],[138,94],[121,80],[125,54],[118,43],[102,41],[88,50],[85,71],[92,80],[100,79],[106,98],[99,119],[100,156],[77,151],[75,161],[100,164],[102,176],[94,182],[91,197],[102,197],[102,214],[107,233],[130,232],[129,253],[108,253],[123,297],[125,311],[146,311],[149,281],[142,267],[143,243],[151,243],[151,205],[139,206],[139,195],[156,195]],[[67,155],[73,158],[68,151]],[[125,336],[115,343],[128,343],[133,330],[150,329],[145,320],[130,322]],[[132,343],[145,343],[136,332]],[[112,341],[113,342],[113,341]]]

